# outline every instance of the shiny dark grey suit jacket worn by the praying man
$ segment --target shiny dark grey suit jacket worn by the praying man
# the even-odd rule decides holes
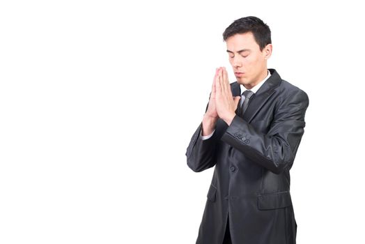
[[[235,244],[293,244],[297,225],[290,198],[290,174],[304,133],[309,99],[276,70],[238,110],[231,125],[218,119],[210,139],[201,124],[187,147],[196,172],[215,166],[196,243],[222,244],[229,213]],[[240,84],[231,84],[240,96]]]

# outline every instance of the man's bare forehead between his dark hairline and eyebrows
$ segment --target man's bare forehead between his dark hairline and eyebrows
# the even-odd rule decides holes
[[[226,45],[227,49],[231,52],[237,52],[242,49],[260,49],[254,38],[254,34],[252,34],[251,32],[238,33],[230,36],[226,40]]]

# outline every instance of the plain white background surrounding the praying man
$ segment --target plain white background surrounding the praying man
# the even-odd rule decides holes
[[[185,151],[247,15],[310,99],[297,243],[361,243],[360,1],[1,1],[0,243],[195,243],[213,171]]]

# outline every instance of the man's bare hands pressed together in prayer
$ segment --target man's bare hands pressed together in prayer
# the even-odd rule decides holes
[[[212,93],[210,93],[208,109],[205,115],[216,119],[219,117],[230,125],[235,116],[235,109],[237,109],[240,98],[240,96],[233,98],[226,68],[219,67],[215,70]]]

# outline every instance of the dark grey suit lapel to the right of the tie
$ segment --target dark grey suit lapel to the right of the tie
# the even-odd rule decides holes
[[[267,81],[261,86],[260,89],[251,97],[249,102],[249,107],[247,107],[246,112],[243,114],[243,119],[250,123],[254,116],[260,111],[261,107],[265,105],[265,102],[274,94],[274,88],[279,86],[281,83],[281,77],[274,69],[269,69],[271,76]],[[240,89],[240,85],[238,84]]]

